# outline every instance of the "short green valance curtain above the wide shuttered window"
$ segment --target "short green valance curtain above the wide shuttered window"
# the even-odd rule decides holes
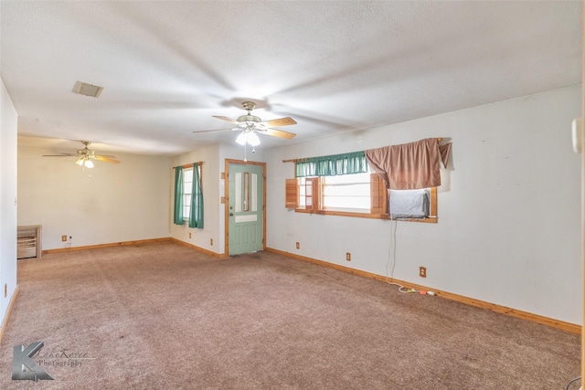
[[[296,163],[296,177],[336,176],[338,174],[364,174],[367,172],[365,152],[311,157]]]

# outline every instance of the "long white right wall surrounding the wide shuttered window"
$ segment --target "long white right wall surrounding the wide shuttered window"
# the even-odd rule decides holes
[[[570,87],[272,150],[268,247],[378,275],[395,265],[396,279],[580,324],[580,155],[570,135],[580,104],[581,86]],[[453,142],[439,223],[398,222],[396,258],[394,222],[284,208],[284,179],[294,173],[283,159],[426,137]]]

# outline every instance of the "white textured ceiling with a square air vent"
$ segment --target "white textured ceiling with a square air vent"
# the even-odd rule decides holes
[[[581,2],[0,3],[0,71],[21,136],[173,155],[263,120],[291,141],[581,83]],[[104,88],[72,93],[77,80]],[[227,125],[227,126],[226,126]],[[473,131],[473,129],[472,129]],[[32,142],[25,137],[21,142]]]

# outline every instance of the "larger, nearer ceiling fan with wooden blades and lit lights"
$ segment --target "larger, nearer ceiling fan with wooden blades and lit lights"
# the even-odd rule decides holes
[[[257,133],[284,138],[286,140],[290,140],[296,135],[293,132],[283,132],[282,130],[272,129],[272,127],[296,124],[296,121],[294,121],[293,118],[286,117],[273,119],[271,121],[262,121],[259,117],[251,114],[251,111],[254,110],[254,107],[256,107],[256,103],[252,101],[244,101],[241,103],[241,105],[243,106],[244,110],[248,111],[248,114],[240,116],[237,120],[233,120],[224,116],[213,115],[214,118],[218,118],[222,121],[229,121],[230,123],[238,125],[238,127],[234,127],[232,129],[204,130],[200,132],[221,132],[225,130],[240,132],[238,138],[236,138],[236,142],[238,142],[240,145],[245,145],[248,143],[251,146],[260,144],[260,138],[258,138]]]

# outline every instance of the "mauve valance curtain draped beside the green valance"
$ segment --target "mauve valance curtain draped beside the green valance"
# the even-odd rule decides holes
[[[386,186],[393,190],[415,190],[441,185],[439,163],[447,165],[451,142],[439,145],[436,138],[385,146],[366,151],[366,159]]]

